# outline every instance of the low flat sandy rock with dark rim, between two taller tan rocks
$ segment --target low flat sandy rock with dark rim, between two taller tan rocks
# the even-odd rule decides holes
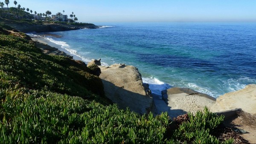
[[[187,112],[197,112],[204,110],[204,107],[212,107],[215,98],[188,88],[173,87],[162,91],[162,99],[166,101],[170,108],[168,114],[177,117]]]

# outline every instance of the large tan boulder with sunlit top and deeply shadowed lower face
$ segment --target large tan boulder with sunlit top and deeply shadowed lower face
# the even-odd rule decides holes
[[[151,111],[153,100],[151,92],[146,91],[138,69],[125,64],[99,66],[106,97],[119,108],[144,114]]]

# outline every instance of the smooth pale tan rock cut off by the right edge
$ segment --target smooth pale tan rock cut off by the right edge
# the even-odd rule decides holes
[[[236,108],[256,114],[256,84],[250,84],[244,89],[219,96],[210,110],[220,112]]]

